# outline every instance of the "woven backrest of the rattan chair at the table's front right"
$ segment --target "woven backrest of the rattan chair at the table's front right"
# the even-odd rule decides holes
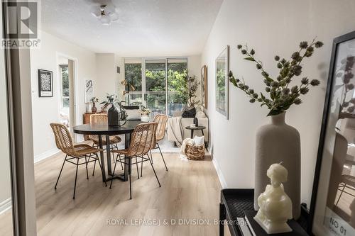
[[[141,123],[134,129],[131,144],[129,145],[129,156],[144,155],[155,147],[156,128],[158,123]]]

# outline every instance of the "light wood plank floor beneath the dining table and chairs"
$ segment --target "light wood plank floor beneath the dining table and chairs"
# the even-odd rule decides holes
[[[87,180],[84,165],[78,172],[73,200],[74,165],[65,164],[55,191],[64,156],[57,154],[35,164],[38,235],[218,235],[214,220],[219,217],[221,186],[211,159],[194,162],[183,161],[178,154],[164,155],[168,172],[160,155],[153,154],[161,188],[148,162],[144,163],[141,179],[132,169],[132,200],[128,182],[116,180],[109,189],[104,187],[98,168]],[[92,167],[90,164],[89,173]],[[184,219],[202,219],[209,225],[181,225],[179,220]],[[135,220],[160,220],[161,225]],[[168,225],[163,225],[164,220]],[[177,220],[176,224],[172,225],[171,220]]]

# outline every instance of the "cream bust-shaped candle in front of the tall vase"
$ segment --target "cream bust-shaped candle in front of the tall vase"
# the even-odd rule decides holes
[[[263,227],[268,234],[290,232],[292,229],[287,220],[292,216],[292,201],[283,190],[283,184],[287,181],[288,170],[281,164],[272,164],[267,172],[271,184],[258,197],[260,209],[254,220]]]

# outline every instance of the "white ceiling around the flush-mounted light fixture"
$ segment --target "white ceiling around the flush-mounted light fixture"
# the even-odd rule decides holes
[[[223,0],[111,0],[119,21],[104,26],[90,8],[107,1],[42,0],[42,29],[121,57],[198,55]]]

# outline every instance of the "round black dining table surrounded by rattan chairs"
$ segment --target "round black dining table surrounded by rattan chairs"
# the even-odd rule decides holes
[[[131,141],[131,133],[136,128],[136,126],[140,123],[143,123],[141,120],[127,120],[126,124],[118,125],[118,126],[109,126],[107,124],[84,124],[84,125],[77,125],[73,128],[74,133],[80,135],[98,135],[99,136],[99,148],[102,149],[100,152],[100,159],[102,164],[102,181],[109,181],[112,178],[114,179],[121,179],[122,181],[127,181],[129,172],[130,172],[130,165],[129,162],[125,160],[124,164],[124,174],[113,175],[112,174],[112,167],[111,167],[111,150],[110,150],[110,139],[109,136],[112,135],[124,135],[124,147],[129,148],[129,142]],[[104,151],[103,151],[103,144],[102,144],[102,135],[106,135],[106,152],[107,152],[107,172],[108,177],[106,176],[105,172],[105,161],[104,161]]]

